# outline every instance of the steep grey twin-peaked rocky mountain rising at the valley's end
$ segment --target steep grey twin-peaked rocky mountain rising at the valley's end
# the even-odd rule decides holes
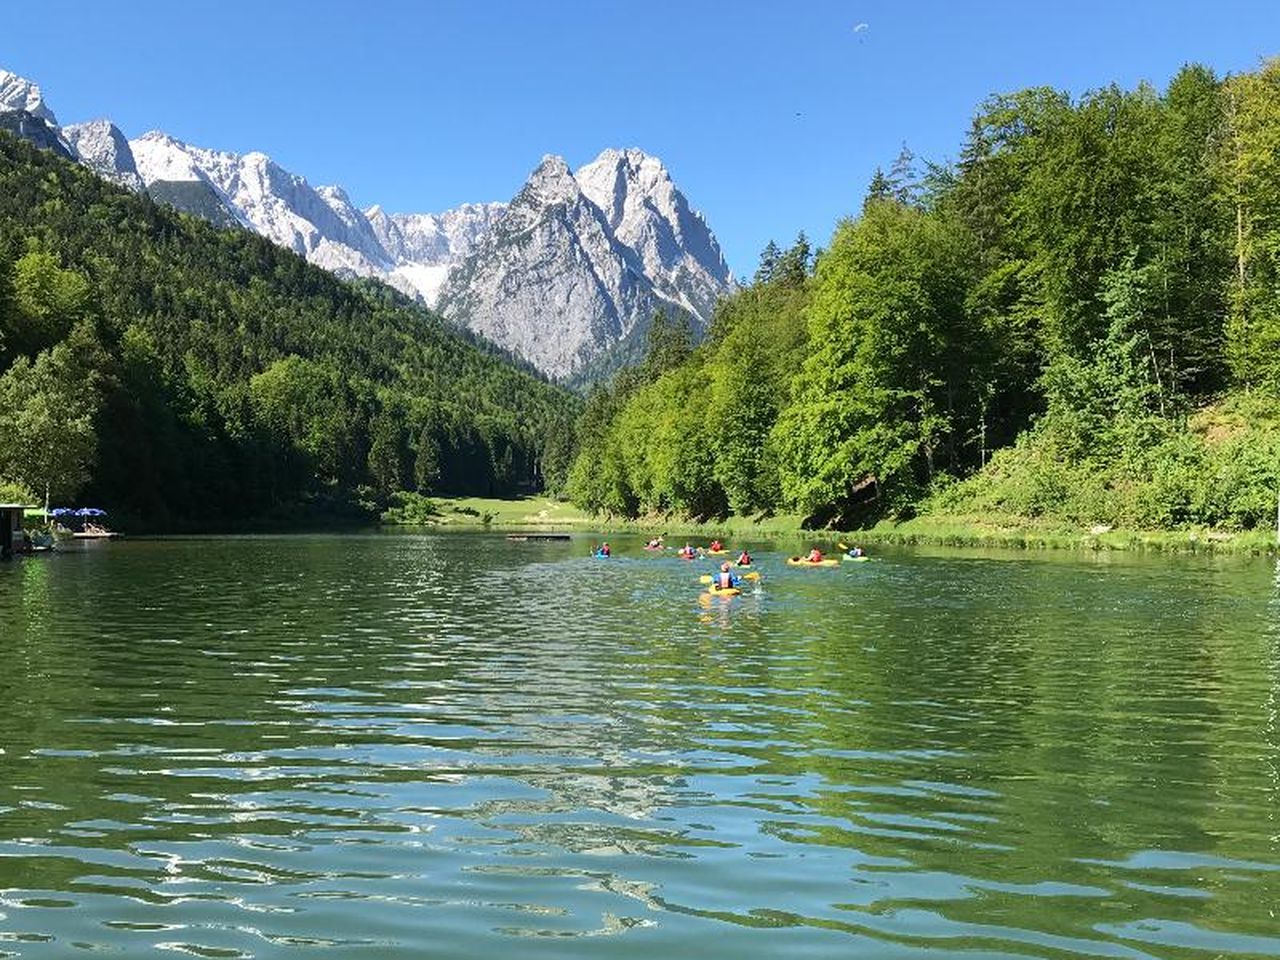
[[[634,342],[658,307],[705,328],[732,287],[710,229],[662,164],[607,150],[576,175],[545,157],[451,270],[436,310],[568,378]]]

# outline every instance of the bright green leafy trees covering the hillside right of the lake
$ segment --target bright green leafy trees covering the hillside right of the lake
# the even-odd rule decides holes
[[[812,255],[764,252],[696,349],[595,392],[593,511],[1274,522],[1280,61],[982,104]],[[678,338],[677,338],[678,339]]]

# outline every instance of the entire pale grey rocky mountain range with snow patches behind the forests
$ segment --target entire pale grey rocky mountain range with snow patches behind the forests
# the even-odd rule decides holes
[[[340,275],[375,276],[552,376],[634,353],[654,310],[710,320],[733,279],[662,161],[605,150],[575,174],[548,156],[511,204],[443,214],[356,207],[265,154],[137,140],[108,120],[59,128],[37,84],[0,70],[0,128],[220,227],[255,230]]]

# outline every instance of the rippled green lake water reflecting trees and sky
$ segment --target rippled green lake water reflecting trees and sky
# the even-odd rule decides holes
[[[1280,956],[1271,562],[0,566],[0,956]]]

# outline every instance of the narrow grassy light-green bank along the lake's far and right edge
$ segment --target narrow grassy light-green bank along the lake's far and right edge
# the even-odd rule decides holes
[[[1124,530],[1078,529],[998,520],[955,517],[916,517],[900,524],[882,521],[858,530],[806,530],[799,515],[780,515],[763,520],[728,517],[723,521],[696,522],[672,517],[591,517],[570,503],[534,497],[517,500],[486,498],[440,498],[439,520],[430,524],[383,524],[383,526],[429,526],[470,530],[553,529],[599,534],[664,534],[666,536],[736,536],[762,540],[813,538],[851,540],[890,547],[987,547],[1019,550],[1130,552],[1172,554],[1219,554],[1270,557],[1280,553],[1271,530]],[[458,512],[460,508],[463,512]],[[474,511],[474,515],[466,511]],[[485,517],[488,516],[488,520]]]

